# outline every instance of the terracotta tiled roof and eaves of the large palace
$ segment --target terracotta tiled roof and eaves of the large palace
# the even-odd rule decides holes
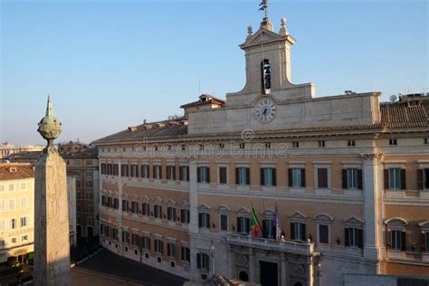
[[[413,105],[411,101],[417,101]],[[429,98],[420,98],[418,100],[404,100],[397,102],[380,103],[381,121],[375,124],[367,125],[344,125],[344,126],[320,126],[301,129],[277,129],[268,131],[256,131],[255,134],[294,134],[294,133],[315,133],[315,132],[340,132],[354,130],[368,130],[374,132],[383,129],[408,129],[408,128],[429,128]],[[157,123],[152,123],[156,125]],[[237,132],[225,133],[206,133],[198,134],[198,137],[219,137],[219,136],[237,135]],[[186,125],[167,125],[162,128],[146,129],[145,125],[129,128],[119,133],[100,138],[92,142],[93,144],[117,143],[120,141],[138,141],[138,140],[156,140],[156,139],[174,139],[174,138],[192,138],[187,135]]]

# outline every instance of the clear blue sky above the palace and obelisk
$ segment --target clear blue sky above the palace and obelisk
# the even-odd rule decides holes
[[[43,143],[47,94],[59,141],[90,142],[182,114],[199,93],[244,84],[238,44],[262,20],[254,1],[2,1],[0,140]],[[293,83],[317,96],[429,92],[427,1],[270,1],[297,40]],[[199,92],[200,91],[200,92]]]

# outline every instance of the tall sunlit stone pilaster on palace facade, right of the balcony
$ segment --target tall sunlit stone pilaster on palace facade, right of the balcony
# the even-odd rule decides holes
[[[364,256],[378,261],[383,246],[383,167],[381,154],[363,154]]]

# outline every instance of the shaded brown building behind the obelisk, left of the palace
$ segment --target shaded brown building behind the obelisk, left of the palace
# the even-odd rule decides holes
[[[58,145],[66,162],[67,175],[73,176],[76,186],[76,234],[78,237],[99,235],[99,160],[98,149],[80,142]],[[42,151],[14,153],[11,162],[35,164]]]

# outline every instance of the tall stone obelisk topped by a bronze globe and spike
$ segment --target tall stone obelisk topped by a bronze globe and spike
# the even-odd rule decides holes
[[[69,214],[65,163],[53,139],[62,131],[53,117],[48,96],[46,116],[37,131],[47,145],[35,165],[34,181],[34,269],[33,284],[70,285]]]

